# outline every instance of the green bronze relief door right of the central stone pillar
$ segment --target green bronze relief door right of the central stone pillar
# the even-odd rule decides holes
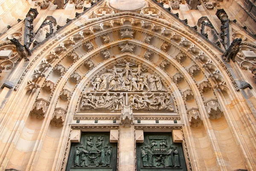
[[[172,133],[144,133],[137,143],[137,171],[187,171],[181,143]]]

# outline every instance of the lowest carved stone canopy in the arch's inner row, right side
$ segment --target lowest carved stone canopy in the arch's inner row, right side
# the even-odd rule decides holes
[[[191,108],[187,110],[187,115],[188,115],[190,126],[198,127],[203,124],[198,108]]]

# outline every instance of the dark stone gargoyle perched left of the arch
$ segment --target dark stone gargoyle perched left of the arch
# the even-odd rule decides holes
[[[18,61],[20,61],[22,58],[24,58],[25,61],[29,61],[28,57],[31,56],[29,48],[26,45],[23,46],[22,44],[20,44],[20,42],[16,38],[11,39],[10,41],[16,46],[16,51],[20,56],[18,58]]]

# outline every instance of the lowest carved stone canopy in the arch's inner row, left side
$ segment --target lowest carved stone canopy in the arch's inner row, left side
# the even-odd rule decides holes
[[[55,108],[51,119],[51,125],[62,127],[66,118],[66,110],[61,107]]]

